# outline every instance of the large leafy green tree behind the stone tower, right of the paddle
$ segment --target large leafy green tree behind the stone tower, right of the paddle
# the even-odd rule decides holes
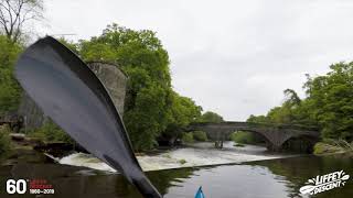
[[[108,25],[77,44],[63,41],[86,62],[118,65],[129,77],[124,121],[136,151],[151,150],[160,135],[178,136],[201,116],[201,107],[172,90],[169,56],[156,33]]]

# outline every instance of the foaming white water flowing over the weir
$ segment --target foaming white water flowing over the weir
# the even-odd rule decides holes
[[[180,167],[194,167],[206,165],[221,165],[261,161],[270,158],[282,158],[293,155],[270,154],[266,147],[245,145],[234,146],[233,142],[225,142],[224,148],[213,147],[213,143],[194,143],[190,147],[176,148],[160,154],[137,156],[143,170],[170,169]],[[94,169],[115,172],[100,160],[85,153],[74,153],[58,161],[60,164],[73,166],[85,166]]]

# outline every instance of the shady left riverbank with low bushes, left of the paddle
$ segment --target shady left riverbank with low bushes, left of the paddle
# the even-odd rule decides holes
[[[56,163],[73,152],[85,152],[85,148],[73,141],[54,122],[47,121],[35,130],[23,129],[20,133],[11,131],[8,124],[0,125],[0,164],[18,163]]]

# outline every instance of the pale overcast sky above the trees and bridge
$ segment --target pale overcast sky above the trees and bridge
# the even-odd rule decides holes
[[[99,35],[107,24],[157,32],[172,84],[226,120],[264,114],[304,74],[353,61],[352,0],[45,0],[40,34]]]

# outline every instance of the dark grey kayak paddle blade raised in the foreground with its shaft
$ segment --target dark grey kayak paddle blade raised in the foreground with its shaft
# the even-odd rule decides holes
[[[43,112],[88,152],[145,197],[162,197],[141,170],[107,90],[74,53],[53,37],[39,40],[20,56],[15,76]]]

